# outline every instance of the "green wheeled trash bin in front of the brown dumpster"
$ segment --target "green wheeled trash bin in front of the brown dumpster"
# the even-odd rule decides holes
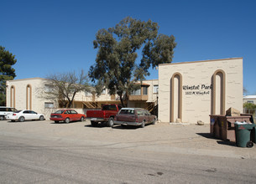
[[[236,143],[238,147],[253,147],[251,130],[254,124],[235,122]]]

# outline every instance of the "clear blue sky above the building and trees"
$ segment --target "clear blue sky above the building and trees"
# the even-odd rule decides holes
[[[0,45],[16,55],[26,79],[95,64],[93,40],[125,17],[159,23],[174,35],[173,62],[243,57],[243,86],[256,95],[256,1],[0,0]],[[157,79],[151,70],[147,79]]]

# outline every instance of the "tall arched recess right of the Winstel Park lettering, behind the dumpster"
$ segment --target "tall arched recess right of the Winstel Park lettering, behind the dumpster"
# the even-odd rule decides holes
[[[226,74],[218,69],[212,76],[212,115],[225,115]]]

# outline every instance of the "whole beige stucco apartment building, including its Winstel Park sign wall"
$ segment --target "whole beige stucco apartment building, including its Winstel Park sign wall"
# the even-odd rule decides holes
[[[7,81],[7,106],[34,110],[46,118],[59,108],[57,100],[44,99],[50,86],[46,79]],[[79,113],[121,104],[107,89],[98,96],[80,92],[72,108]],[[144,80],[141,89],[128,96],[129,107],[142,107],[160,122],[209,123],[209,115],[224,115],[230,107],[243,112],[243,59],[215,59],[159,64],[159,79]]]

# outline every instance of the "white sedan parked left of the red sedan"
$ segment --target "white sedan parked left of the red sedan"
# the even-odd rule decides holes
[[[44,115],[38,114],[33,110],[18,110],[8,114],[6,119],[11,121],[18,120],[20,122],[24,120],[44,120]]]

